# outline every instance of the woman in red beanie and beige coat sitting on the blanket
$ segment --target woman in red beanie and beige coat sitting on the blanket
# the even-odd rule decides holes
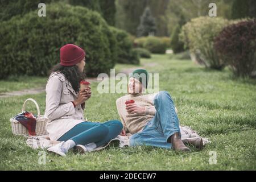
[[[73,44],[60,49],[60,64],[57,64],[46,85],[46,130],[51,140],[61,141],[47,150],[65,156],[75,147],[80,152],[92,151],[117,137],[122,130],[119,121],[86,122],[85,101],[91,90],[80,90],[84,80],[85,51]]]

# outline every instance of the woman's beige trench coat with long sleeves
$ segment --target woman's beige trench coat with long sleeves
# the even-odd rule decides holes
[[[46,85],[46,130],[51,140],[59,139],[77,124],[86,121],[81,105],[73,106],[77,94],[63,73],[52,73]]]

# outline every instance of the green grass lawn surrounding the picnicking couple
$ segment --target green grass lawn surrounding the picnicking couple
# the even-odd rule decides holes
[[[135,66],[130,65],[129,68]],[[26,146],[23,137],[14,137],[9,119],[22,109],[24,100],[34,98],[45,109],[45,93],[0,98],[0,169],[2,170],[255,170],[256,169],[256,81],[235,79],[225,69],[206,70],[189,60],[153,55],[142,59],[148,72],[159,73],[159,90],[170,92],[179,110],[181,125],[191,126],[210,139],[202,151],[175,154],[153,147],[109,147],[84,155],[69,152],[67,158],[46,154],[46,164],[38,163],[38,153]],[[118,71],[127,68],[117,65]],[[44,78],[42,78],[44,79]],[[36,78],[29,78],[35,81]],[[35,81],[36,82],[36,81]],[[2,86],[3,85],[3,86]],[[15,85],[15,84],[14,84]],[[9,88],[9,81],[1,82]],[[98,94],[92,83],[88,101],[89,121],[119,119],[115,100],[122,94]],[[30,111],[35,111],[32,104]],[[46,151],[46,150],[45,150]],[[217,154],[217,164],[209,164],[209,152]]]

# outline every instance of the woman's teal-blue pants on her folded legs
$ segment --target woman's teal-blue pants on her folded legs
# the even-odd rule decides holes
[[[123,125],[117,120],[100,122],[81,122],[63,136],[58,141],[73,140],[76,144],[96,143],[96,146],[103,146],[113,138],[117,137]]]

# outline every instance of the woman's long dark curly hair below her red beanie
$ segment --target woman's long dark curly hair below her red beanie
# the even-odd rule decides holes
[[[53,72],[63,73],[63,75],[65,75],[67,80],[71,83],[72,88],[76,91],[76,93],[79,92],[80,81],[85,80],[85,78],[86,78],[85,73],[84,72],[81,73],[79,71],[79,68],[77,67],[77,65],[73,65],[70,67],[64,67],[61,64],[56,64],[51,70],[51,73],[53,73]]]

